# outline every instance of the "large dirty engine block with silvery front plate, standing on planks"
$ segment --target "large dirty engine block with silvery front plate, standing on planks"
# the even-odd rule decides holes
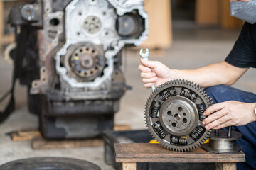
[[[18,78],[28,86],[29,110],[40,116],[44,137],[95,137],[112,128],[129,88],[122,48],[148,36],[143,3],[35,0],[11,9],[16,49],[23,51]]]

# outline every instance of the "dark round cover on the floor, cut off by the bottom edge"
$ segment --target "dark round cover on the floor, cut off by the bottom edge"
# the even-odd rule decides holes
[[[80,159],[36,157],[18,159],[0,166],[0,170],[100,170],[100,166]]]

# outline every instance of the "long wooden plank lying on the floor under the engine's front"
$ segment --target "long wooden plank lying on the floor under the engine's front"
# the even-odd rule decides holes
[[[102,139],[91,140],[32,140],[33,149],[60,149],[71,147],[102,147],[104,142]]]

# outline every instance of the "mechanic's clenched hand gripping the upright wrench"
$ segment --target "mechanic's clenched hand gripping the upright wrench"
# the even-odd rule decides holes
[[[141,71],[142,81],[146,88],[150,88],[155,84],[159,86],[164,84],[166,81],[175,79],[174,70],[169,69],[166,65],[161,62],[140,60],[142,64],[139,65],[138,69]]]

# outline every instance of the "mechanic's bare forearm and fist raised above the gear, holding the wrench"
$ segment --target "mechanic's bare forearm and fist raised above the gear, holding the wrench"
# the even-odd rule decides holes
[[[161,62],[141,60],[139,70],[144,86],[149,88],[152,85],[159,86],[172,79],[188,79],[200,84],[203,87],[219,84],[232,85],[249,68],[235,67],[223,61],[210,64],[198,69],[169,69]]]

